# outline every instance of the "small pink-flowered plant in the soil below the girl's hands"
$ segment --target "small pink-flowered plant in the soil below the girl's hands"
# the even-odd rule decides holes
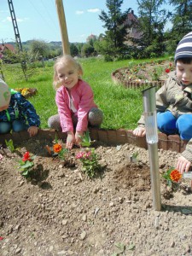
[[[95,148],[84,148],[84,150],[76,154],[76,159],[82,162],[82,171],[88,177],[96,176],[96,172],[101,170]]]

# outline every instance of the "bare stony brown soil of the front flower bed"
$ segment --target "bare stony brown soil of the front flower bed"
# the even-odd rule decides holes
[[[153,209],[148,151],[96,143],[102,172],[85,177],[80,164],[49,157],[46,140],[23,142],[0,165],[0,255],[192,255],[189,180],[170,193],[161,179],[162,211]],[[26,150],[36,154],[38,175],[27,182],[17,169]],[[131,154],[138,153],[131,163]],[[160,172],[177,153],[159,151]],[[115,254],[116,253],[116,254]]]

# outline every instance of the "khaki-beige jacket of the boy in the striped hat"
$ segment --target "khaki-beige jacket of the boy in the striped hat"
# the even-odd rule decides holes
[[[192,84],[183,87],[175,73],[172,73],[156,92],[156,111],[165,112],[166,109],[171,111],[176,118],[183,113],[192,113]],[[138,126],[145,126],[143,115],[138,120]],[[192,162],[192,139],[189,140],[182,155]]]

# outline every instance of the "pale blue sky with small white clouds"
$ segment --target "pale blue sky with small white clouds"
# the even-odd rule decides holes
[[[0,43],[15,42],[15,32],[8,0],[0,0]],[[63,0],[70,43],[86,42],[90,34],[104,33],[99,19],[101,10],[108,12],[105,0]],[[61,41],[55,0],[12,0],[21,42],[27,40]],[[124,0],[121,11],[133,9],[137,15],[137,0]]]

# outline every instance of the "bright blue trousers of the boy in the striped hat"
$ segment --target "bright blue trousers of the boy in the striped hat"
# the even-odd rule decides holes
[[[189,140],[192,137],[192,114],[184,113],[176,118],[170,111],[157,113],[157,126],[161,132],[179,134],[181,139]]]

